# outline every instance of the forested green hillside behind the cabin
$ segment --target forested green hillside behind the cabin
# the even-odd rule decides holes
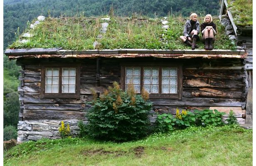
[[[116,16],[131,17],[134,13],[148,17],[165,17],[169,13],[188,18],[191,12],[199,16],[219,15],[221,0],[4,0],[5,49],[15,41],[30,22],[39,15],[69,17],[108,15],[110,8]],[[20,102],[17,87],[20,66],[4,59],[4,140],[17,137]]]

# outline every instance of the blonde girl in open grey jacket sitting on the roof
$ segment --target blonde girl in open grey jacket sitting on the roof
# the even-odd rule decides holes
[[[195,47],[198,48],[198,46],[196,45],[196,41],[199,40],[198,34],[199,34],[199,22],[197,21],[197,14],[192,13],[190,15],[190,20],[187,20],[185,24],[185,27],[183,30],[184,36],[180,36],[180,39],[182,39],[182,41],[185,44],[191,46],[192,49],[195,49]]]

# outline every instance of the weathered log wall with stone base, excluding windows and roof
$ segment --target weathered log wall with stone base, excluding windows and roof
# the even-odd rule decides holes
[[[85,114],[90,105],[91,91],[103,93],[113,81],[120,82],[120,63],[170,62],[183,65],[182,100],[151,99],[153,111],[172,113],[176,109],[217,109],[228,113],[234,110],[239,123],[243,124],[246,99],[246,69],[240,59],[100,59],[100,81],[96,80],[96,59],[32,59],[21,58],[20,76],[20,122],[18,139],[37,140],[41,137],[58,138],[61,120],[72,122],[74,128],[78,120],[86,122]],[[44,98],[40,99],[41,66],[43,63],[81,63],[80,99]],[[227,117],[225,115],[224,117]],[[154,119],[154,117],[153,117]],[[47,126],[47,124],[51,125]],[[73,134],[78,131],[74,129]],[[43,133],[40,133],[43,132]],[[44,133],[47,132],[47,133]],[[50,133],[52,134],[50,134]]]

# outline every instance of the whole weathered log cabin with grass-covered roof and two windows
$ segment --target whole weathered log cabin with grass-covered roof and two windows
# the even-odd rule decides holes
[[[90,89],[103,93],[113,81],[123,90],[130,81],[138,93],[145,88],[152,112],[216,109],[227,113],[225,119],[233,110],[239,124],[245,124],[252,53],[224,37],[219,23],[213,50],[204,50],[202,43],[190,50],[179,41],[184,23],[184,18],[171,16],[73,17],[46,18],[30,26],[29,35],[5,51],[22,67],[17,141],[60,138],[61,121],[77,135],[77,122],[86,122],[90,108],[85,104],[92,99]],[[154,122],[155,116],[150,118]]]

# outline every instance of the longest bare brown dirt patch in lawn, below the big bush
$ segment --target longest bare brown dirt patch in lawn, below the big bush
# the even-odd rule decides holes
[[[108,154],[114,154],[115,156],[122,156],[126,154],[126,151],[106,151],[103,149],[89,149],[89,150],[82,150],[82,154],[85,156],[93,156],[93,155],[108,155]]]

